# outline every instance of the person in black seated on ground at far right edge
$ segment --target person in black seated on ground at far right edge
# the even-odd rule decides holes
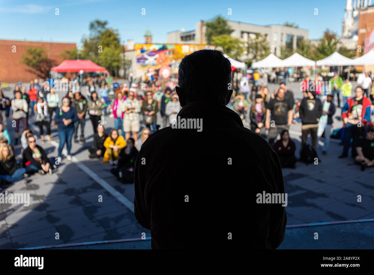
[[[357,141],[356,162],[361,164],[361,170],[374,166],[374,128],[368,129],[366,138],[359,138]]]

